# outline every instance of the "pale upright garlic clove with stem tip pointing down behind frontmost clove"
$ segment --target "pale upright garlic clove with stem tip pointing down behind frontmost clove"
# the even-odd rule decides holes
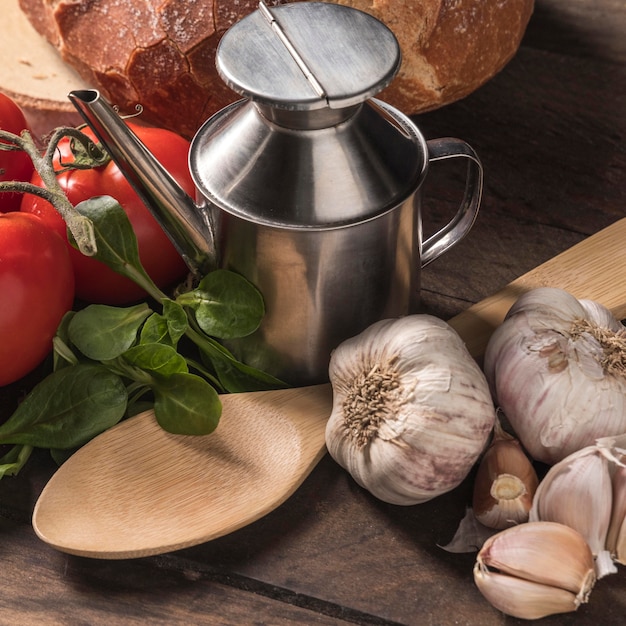
[[[597,575],[602,578],[617,572],[606,550],[612,501],[609,461],[602,450],[588,446],[548,470],[535,493],[529,519],[577,530],[596,557]]]

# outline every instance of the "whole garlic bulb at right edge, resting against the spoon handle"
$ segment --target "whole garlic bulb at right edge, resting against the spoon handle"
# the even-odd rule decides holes
[[[538,461],[626,432],[626,329],[598,303],[549,287],[527,292],[493,333],[484,371]]]

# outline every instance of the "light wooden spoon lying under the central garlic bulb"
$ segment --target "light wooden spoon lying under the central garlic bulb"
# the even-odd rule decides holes
[[[626,219],[450,321],[476,358],[529,289],[553,286],[626,317]],[[215,433],[171,435],[146,412],[74,454],[33,513],[41,539],[71,554],[121,559],[225,535],[284,502],[326,452],[330,385],[223,396]]]

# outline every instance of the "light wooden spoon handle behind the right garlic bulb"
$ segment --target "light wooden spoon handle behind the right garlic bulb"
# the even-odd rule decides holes
[[[513,303],[536,287],[559,287],[626,317],[626,218],[542,263],[450,320],[475,358]]]

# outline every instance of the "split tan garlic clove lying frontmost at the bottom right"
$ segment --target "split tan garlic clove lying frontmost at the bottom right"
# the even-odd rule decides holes
[[[498,610],[521,619],[575,611],[595,584],[593,557],[574,529],[551,522],[512,526],[487,539],[474,582]]]

